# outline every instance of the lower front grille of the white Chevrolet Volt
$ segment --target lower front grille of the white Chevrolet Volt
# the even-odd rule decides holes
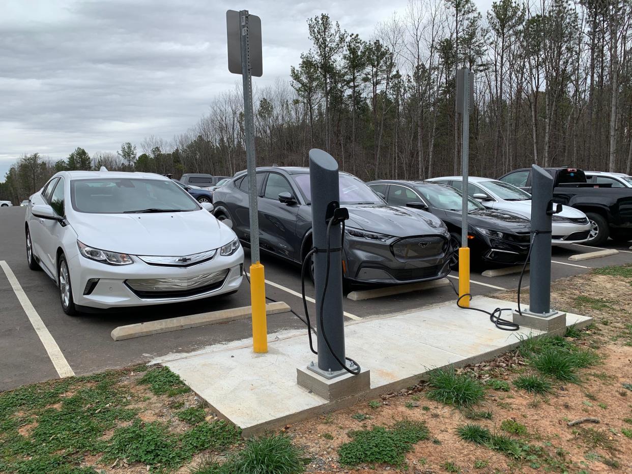
[[[139,298],[174,298],[201,295],[220,288],[229,270],[190,277],[129,279],[128,288]]]

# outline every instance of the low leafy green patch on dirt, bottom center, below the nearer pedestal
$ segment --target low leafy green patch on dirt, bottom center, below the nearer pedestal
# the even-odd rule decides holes
[[[385,463],[399,466],[404,463],[404,454],[416,442],[428,438],[428,428],[423,422],[402,420],[392,428],[374,426],[371,430],[350,431],[353,441],[342,444],[338,449],[340,463],[356,466],[360,463]]]

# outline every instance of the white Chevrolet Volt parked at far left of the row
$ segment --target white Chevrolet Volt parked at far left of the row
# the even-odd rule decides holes
[[[69,315],[234,293],[243,276],[235,233],[171,179],[61,171],[30,197],[28,266],[58,285]]]

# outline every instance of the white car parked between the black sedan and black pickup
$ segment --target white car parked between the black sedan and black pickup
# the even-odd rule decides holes
[[[463,176],[444,176],[431,178],[428,181],[450,185],[461,191]],[[519,216],[531,219],[531,195],[509,183],[497,179],[468,178],[468,195],[489,209],[508,210]],[[552,217],[553,245],[588,241],[590,237],[590,222],[586,214],[579,209],[562,206],[562,212]]]

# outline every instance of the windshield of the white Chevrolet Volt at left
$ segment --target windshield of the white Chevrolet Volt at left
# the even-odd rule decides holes
[[[73,179],[70,196],[73,209],[94,214],[200,209],[197,202],[171,179]]]

